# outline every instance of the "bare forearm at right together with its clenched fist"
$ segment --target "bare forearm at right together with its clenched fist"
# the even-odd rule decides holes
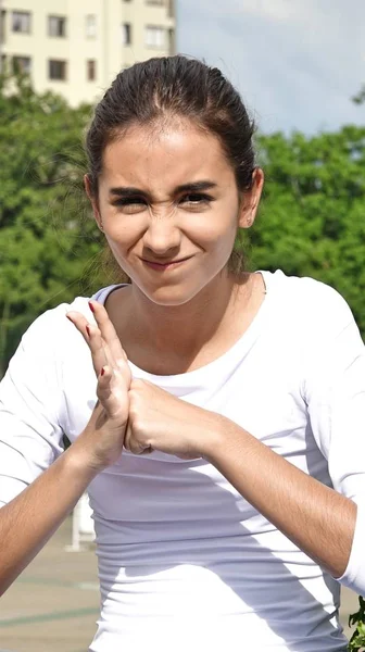
[[[306,475],[230,419],[133,380],[125,446],[202,456],[309,556],[340,577],[348,564],[356,504]]]

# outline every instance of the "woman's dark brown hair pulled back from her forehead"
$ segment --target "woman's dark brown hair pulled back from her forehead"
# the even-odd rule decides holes
[[[235,171],[237,188],[251,187],[254,125],[239,93],[218,68],[176,55],[122,71],[97,105],[86,138],[92,193],[98,196],[102,155],[110,142],[131,125],[153,125],[174,116],[215,135]],[[232,251],[228,265],[236,274],[244,269],[241,248]]]

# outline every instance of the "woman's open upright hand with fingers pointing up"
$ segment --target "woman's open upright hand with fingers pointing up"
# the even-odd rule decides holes
[[[109,318],[97,301],[89,302],[97,325],[78,312],[68,312],[68,319],[87,342],[98,378],[98,403],[91,418],[73,447],[79,448],[96,471],[114,464],[124,444],[128,422],[130,369],[127,356]]]

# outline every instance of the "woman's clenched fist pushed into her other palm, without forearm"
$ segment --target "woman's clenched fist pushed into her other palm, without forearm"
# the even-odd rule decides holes
[[[131,380],[124,446],[135,454],[158,450],[186,460],[205,457],[219,440],[224,417],[191,405],[147,380]]]

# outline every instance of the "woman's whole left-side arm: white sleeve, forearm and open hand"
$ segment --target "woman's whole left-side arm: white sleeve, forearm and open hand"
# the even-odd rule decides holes
[[[108,331],[109,321],[101,305],[96,305],[97,324],[80,313],[70,317],[90,348],[99,402],[67,451],[60,455],[60,427],[51,408],[62,386],[53,378],[53,361],[39,354],[39,325],[25,337],[0,387],[0,501],[7,503],[0,509],[0,594],[41,550],[93,477],[122,453],[130,381],[125,354],[115,338],[105,343],[102,331]]]

